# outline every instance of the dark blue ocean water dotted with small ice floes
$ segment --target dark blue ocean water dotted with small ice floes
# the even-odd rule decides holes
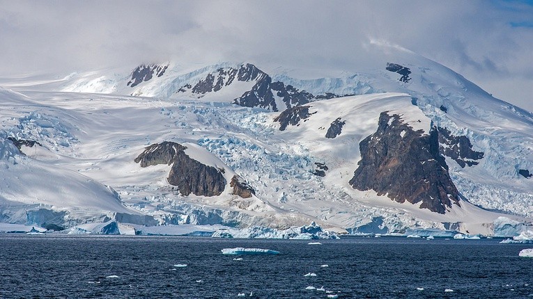
[[[0,298],[533,298],[533,246],[499,241],[2,235]]]

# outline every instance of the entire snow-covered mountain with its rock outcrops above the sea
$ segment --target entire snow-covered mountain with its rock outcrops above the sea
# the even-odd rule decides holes
[[[0,220],[530,225],[532,113],[409,51],[355,71],[298,79],[251,63],[167,62],[4,79]]]

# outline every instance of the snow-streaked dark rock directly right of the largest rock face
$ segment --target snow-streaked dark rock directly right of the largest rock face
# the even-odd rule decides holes
[[[438,136],[440,146],[440,154],[449,156],[454,159],[461,168],[466,165],[477,165],[479,162],[474,160],[483,159],[483,152],[476,152],[472,149],[472,143],[466,136],[453,136],[446,128],[438,127]],[[443,146],[444,145],[444,146]]]

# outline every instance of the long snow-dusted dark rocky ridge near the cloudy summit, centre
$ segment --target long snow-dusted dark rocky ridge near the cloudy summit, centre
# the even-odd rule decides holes
[[[286,86],[283,82],[272,82],[272,78],[268,74],[249,63],[241,65],[238,69],[233,67],[219,68],[216,72],[208,74],[205,79],[201,79],[196,85],[186,84],[177,92],[190,90],[194,94],[204,95],[207,92],[217,92],[224,86],[231,85],[235,80],[241,82],[256,81],[252,89],[233,99],[233,103],[239,106],[282,111],[285,108],[307,104],[316,98],[309,92],[298,90],[291,85]],[[275,96],[281,97],[286,107],[278,107]],[[327,96],[338,97],[331,93]]]

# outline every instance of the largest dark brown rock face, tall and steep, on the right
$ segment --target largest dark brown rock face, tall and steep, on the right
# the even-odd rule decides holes
[[[402,136],[403,135],[403,136]],[[440,155],[438,131],[414,131],[399,115],[380,114],[376,133],[360,143],[361,161],[350,185],[387,194],[396,202],[422,202],[421,208],[445,213],[460,195]]]

